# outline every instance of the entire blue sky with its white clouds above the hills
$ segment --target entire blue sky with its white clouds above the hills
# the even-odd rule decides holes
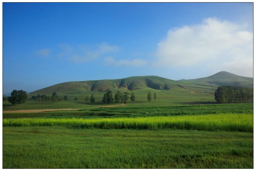
[[[3,3],[3,93],[221,70],[253,76],[253,3]]]

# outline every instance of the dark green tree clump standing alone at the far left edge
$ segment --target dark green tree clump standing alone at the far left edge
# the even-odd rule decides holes
[[[9,103],[13,105],[23,104],[26,102],[28,95],[23,90],[13,90],[11,96],[8,97]]]

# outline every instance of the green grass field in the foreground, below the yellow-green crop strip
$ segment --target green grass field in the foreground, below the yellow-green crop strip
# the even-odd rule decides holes
[[[253,133],[3,127],[3,168],[253,168]]]

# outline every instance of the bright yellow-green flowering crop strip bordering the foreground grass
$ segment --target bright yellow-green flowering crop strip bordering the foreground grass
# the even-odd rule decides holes
[[[253,132],[251,114],[153,116],[143,118],[17,118],[3,126],[66,126],[84,129],[197,129]]]

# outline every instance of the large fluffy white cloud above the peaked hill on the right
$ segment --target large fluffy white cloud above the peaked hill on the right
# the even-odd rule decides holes
[[[253,34],[246,26],[207,18],[198,25],[171,29],[158,43],[157,64],[187,67],[215,63],[215,69],[252,76]]]

